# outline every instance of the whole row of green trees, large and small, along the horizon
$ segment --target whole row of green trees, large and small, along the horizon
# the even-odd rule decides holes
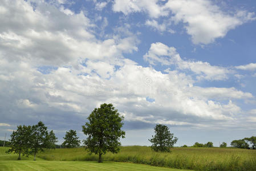
[[[95,108],[87,117],[87,120],[86,124],[82,125],[82,131],[87,136],[87,139],[83,140],[85,149],[90,153],[98,154],[98,162],[102,162],[102,155],[107,152],[118,153],[121,145],[120,138],[125,137],[125,132],[121,130],[124,124],[124,116],[121,116],[112,104],[104,103],[99,108]],[[19,125],[17,128],[17,131],[14,131],[11,135],[11,148],[7,153],[18,153],[18,160],[21,159],[21,154],[26,156],[34,154],[35,160],[36,153],[43,151],[43,149],[53,149],[55,146],[57,148],[74,148],[81,143],[76,131],[71,129],[63,137],[64,142],[61,145],[56,145],[57,138],[53,131],[48,132],[42,121],[32,126]],[[166,125],[157,124],[154,129],[155,135],[152,136],[152,139],[149,139],[152,143],[151,149],[156,152],[170,152],[170,148],[173,148],[173,145],[177,143],[177,137],[170,133]],[[234,140],[231,145],[238,148],[241,148],[241,146],[248,148],[248,143],[252,144],[252,148],[255,149],[255,137]],[[221,147],[226,147],[226,145],[223,142]],[[193,146],[212,147],[213,143],[200,144],[196,142]]]

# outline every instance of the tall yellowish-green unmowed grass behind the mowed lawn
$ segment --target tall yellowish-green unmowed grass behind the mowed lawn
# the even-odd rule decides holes
[[[46,160],[97,161],[84,148],[55,149],[39,153]],[[192,170],[256,170],[256,150],[231,148],[174,148],[172,153],[153,152],[147,146],[122,146],[107,153],[103,161],[122,161]]]

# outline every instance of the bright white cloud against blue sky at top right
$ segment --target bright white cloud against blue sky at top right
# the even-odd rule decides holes
[[[182,22],[194,44],[213,43],[215,39],[223,38],[229,30],[256,19],[254,13],[245,10],[225,12],[209,0],[169,0],[162,5],[159,2],[115,0],[113,11],[121,11],[125,15],[143,11],[151,18],[166,17],[174,23]],[[165,30],[165,25],[157,25],[155,20],[148,20],[146,25]]]

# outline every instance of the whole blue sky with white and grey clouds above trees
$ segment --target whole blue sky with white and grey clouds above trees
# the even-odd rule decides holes
[[[124,116],[122,145],[255,136],[256,1],[2,0],[0,140],[38,121],[59,144],[94,108]]]

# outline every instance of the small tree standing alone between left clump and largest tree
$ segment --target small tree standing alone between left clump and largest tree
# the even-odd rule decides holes
[[[76,131],[70,129],[69,132],[66,132],[65,137],[63,137],[65,140],[62,145],[65,146],[66,148],[74,148],[75,146],[80,145],[80,140],[79,137],[76,136]]]

